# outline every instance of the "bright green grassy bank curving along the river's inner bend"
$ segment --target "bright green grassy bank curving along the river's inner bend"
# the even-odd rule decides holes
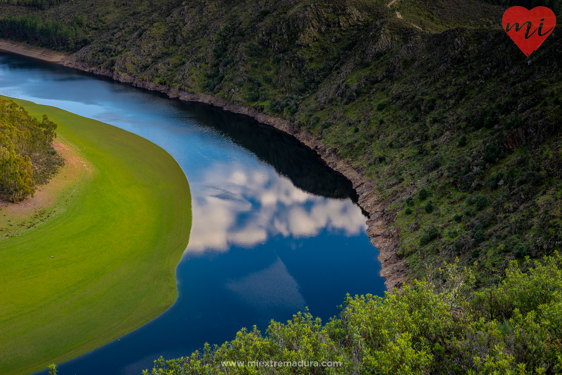
[[[99,121],[17,103],[33,116],[47,113],[92,174],[62,213],[1,242],[4,374],[70,359],[162,313],[176,297],[175,266],[191,228],[187,180],[162,148]]]

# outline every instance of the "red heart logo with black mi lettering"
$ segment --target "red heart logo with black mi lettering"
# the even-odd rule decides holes
[[[537,51],[556,26],[556,16],[547,7],[530,11],[524,7],[511,7],[501,19],[507,35],[526,56]]]

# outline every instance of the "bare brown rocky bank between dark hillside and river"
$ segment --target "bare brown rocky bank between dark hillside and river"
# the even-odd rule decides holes
[[[75,56],[65,58],[58,64],[73,67],[93,74],[111,77],[119,82],[132,83],[135,87],[160,91],[162,93],[166,93],[170,98],[179,98],[180,100],[188,102],[207,103],[212,106],[221,107],[225,111],[250,116],[262,124],[273,126],[276,129],[293,135],[293,137],[316,151],[316,153],[318,153],[318,155],[327,162],[330,168],[342,173],[345,177],[351,180],[353,188],[359,195],[359,205],[362,209],[367,211],[370,216],[370,219],[367,220],[367,234],[371,239],[373,246],[377,247],[380,251],[379,260],[380,263],[382,263],[380,275],[387,279],[385,284],[389,291],[392,291],[395,287],[400,287],[402,282],[404,282],[408,263],[406,260],[400,259],[396,255],[396,246],[398,244],[398,238],[400,238],[400,229],[390,225],[384,215],[384,208],[388,205],[389,201],[377,201],[373,195],[373,181],[367,180],[361,173],[361,170],[353,168],[346,160],[339,158],[336,150],[325,146],[320,139],[315,138],[310,133],[299,129],[287,120],[265,115],[252,107],[232,103],[211,94],[181,91],[176,88],[172,88],[169,85],[139,80],[132,75],[117,73],[116,71],[111,71],[109,69],[92,67],[84,62],[78,61]]]

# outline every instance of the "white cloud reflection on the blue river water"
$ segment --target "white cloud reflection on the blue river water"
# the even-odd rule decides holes
[[[346,236],[366,229],[350,199],[316,196],[295,187],[268,165],[215,164],[191,186],[193,226],[188,253],[252,247],[281,235],[311,237],[324,228]]]

